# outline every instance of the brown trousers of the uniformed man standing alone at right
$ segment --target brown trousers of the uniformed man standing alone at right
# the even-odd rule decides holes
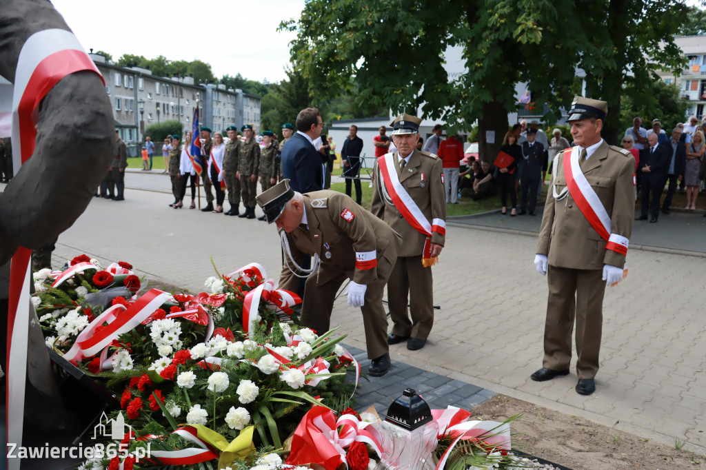
[[[544,324],[542,366],[566,370],[571,362],[571,332],[576,323],[576,372],[579,379],[598,372],[603,325],[603,270],[573,270],[549,265],[549,299]]]

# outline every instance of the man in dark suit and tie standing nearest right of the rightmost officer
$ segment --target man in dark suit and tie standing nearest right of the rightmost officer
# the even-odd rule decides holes
[[[642,214],[635,217],[635,220],[647,220],[647,213],[650,212],[652,218],[650,222],[657,222],[659,217],[659,198],[664,189],[664,166],[669,161],[669,149],[663,145],[658,145],[657,133],[647,135],[647,148],[640,150],[640,192],[642,193]],[[667,143],[669,145],[669,143]],[[650,193],[652,202],[650,203]]]

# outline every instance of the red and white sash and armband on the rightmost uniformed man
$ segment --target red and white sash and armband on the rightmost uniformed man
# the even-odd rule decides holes
[[[564,177],[571,197],[591,227],[607,242],[606,250],[627,255],[628,239],[618,234],[611,234],[611,217],[581,171],[578,159],[578,147],[564,150]]]

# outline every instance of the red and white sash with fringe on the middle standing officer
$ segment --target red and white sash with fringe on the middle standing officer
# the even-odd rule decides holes
[[[426,235],[424,242],[424,254],[422,255],[422,263],[425,266],[431,266],[436,263],[436,258],[431,259],[431,234],[436,232],[441,235],[446,234],[446,221],[444,219],[429,220],[424,217],[424,214],[414,202],[412,196],[407,193],[405,187],[400,183],[400,178],[397,176],[397,168],[395,168],[395,159],[392,153],[378,157],[378,168],[385,182],[385,189],[390,195],[390,199],[395,203],[395,207],[400,211],[402,217],[414,227],[420,234]],[[425,262],[425,260],[428,260]]]

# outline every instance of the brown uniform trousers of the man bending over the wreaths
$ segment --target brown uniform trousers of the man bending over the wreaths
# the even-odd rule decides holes
[[[365,328],[365,343],[368,350],[368,358],[375,359],[389,351],[388,347],[388,319],[383,308],[383,291],[388,282],[390,272],[393,270],[392,263],[388,260],[395,259],[395,248],[385,249],[385,257],[378,258],[378,279],[368,284],[365,291],[365,303],[360,311],[363,313],[363,326]],[[421,263],[421,262],[420,262]],[[321,266],[321,275],[326,267]],[[304,301],[301,305],[301,323],[311,327],[318,335],[323,335],[330,329],[331,311],[333,301],[341,284],[348,279],[344,273],[340,273],[323,284],[316,283],[316,273],[306,279],[304,289]]]

